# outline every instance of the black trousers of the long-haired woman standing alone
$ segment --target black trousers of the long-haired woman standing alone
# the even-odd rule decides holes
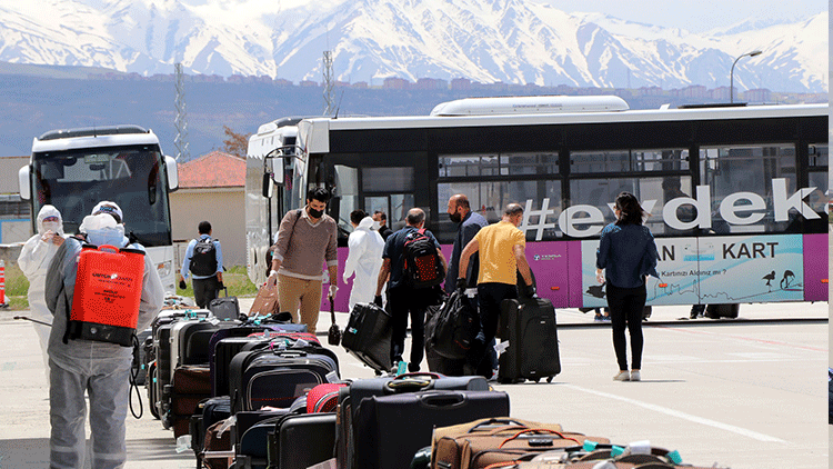
[[[645,308],[648,292],[645,286],[619,288],[608,282],[608,306],[610,307],[611,327],[613,328],[613,350],[620,370],[628,369],[628,343],[624,331],[631,336],[631,369],[642,368],[642,310]]]

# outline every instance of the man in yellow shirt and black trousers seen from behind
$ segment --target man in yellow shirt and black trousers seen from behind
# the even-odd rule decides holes
[[[518,271],[521,272],[529,296],[535,295],[530,266],[526,262],[526,239],[518,227],[523,221],[523,207],[510,203],[501,221],[490,224],[474,236],[460,255],[458,288],[465,288],[465,272],[474,252],[480,252],[478,275],[478,305],[480,306],[480,333],[466,357],[465,373],[473,375],[485,357],[485,347],[492,343],[498,330],[501,301],[518,298]],[[485,368],[485,367],[484,367]],[[486,378],[489,371],[482,372]]]

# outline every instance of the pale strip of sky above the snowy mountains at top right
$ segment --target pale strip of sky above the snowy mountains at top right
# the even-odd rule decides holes
[[[540,0],[568,12],[606,13],[623,20],[703,32],[747,18],[801,19],[827,11],[827,0]]]

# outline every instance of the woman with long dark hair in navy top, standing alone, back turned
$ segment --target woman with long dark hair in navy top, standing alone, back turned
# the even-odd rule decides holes
[[[616,196],[616,221],[602,230],[595,259],[599,283],[606,282],[608,306],[616,352],[616,381],[640,381],[642,367],[642,310],[645,307],[645,277],[656,273],[656,243],[642,224],[648,213],[630,192]],[[631,336],[631,371],[628,371],[625,329]]]

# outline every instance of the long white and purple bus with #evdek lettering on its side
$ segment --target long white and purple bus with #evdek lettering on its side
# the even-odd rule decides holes
[[[539,295],[600,307],[599,232],[626,190],[651,213],[660,249],[649,305],[736,313],[732,305],[827,299],[826,104],[630,110],[616,97],[483,98],[431,116],[297,126],[287,207],[303,206],[299,186],[330,189],[341,238],[354,209],[385,211],[395,230],[421,207],[450,252],[450,196],[465,193],[492,222],[519,202]]]

